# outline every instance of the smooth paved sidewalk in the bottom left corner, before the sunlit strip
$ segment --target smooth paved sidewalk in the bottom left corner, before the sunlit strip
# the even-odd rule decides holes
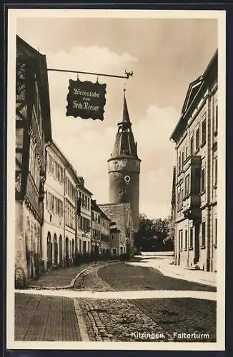
[[[15,293],[15,341],[80,341],[71,298]]]

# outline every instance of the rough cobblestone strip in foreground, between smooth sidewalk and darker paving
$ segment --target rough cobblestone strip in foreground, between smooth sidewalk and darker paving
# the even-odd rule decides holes
[[[91,341],[173,341],[164,328],[130,301],[79,299],[79,305]]]

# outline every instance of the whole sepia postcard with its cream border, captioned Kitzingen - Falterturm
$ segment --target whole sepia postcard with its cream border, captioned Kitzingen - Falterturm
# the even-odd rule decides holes
[[[224,350],[225,37],[9,9],[7,348]]]

